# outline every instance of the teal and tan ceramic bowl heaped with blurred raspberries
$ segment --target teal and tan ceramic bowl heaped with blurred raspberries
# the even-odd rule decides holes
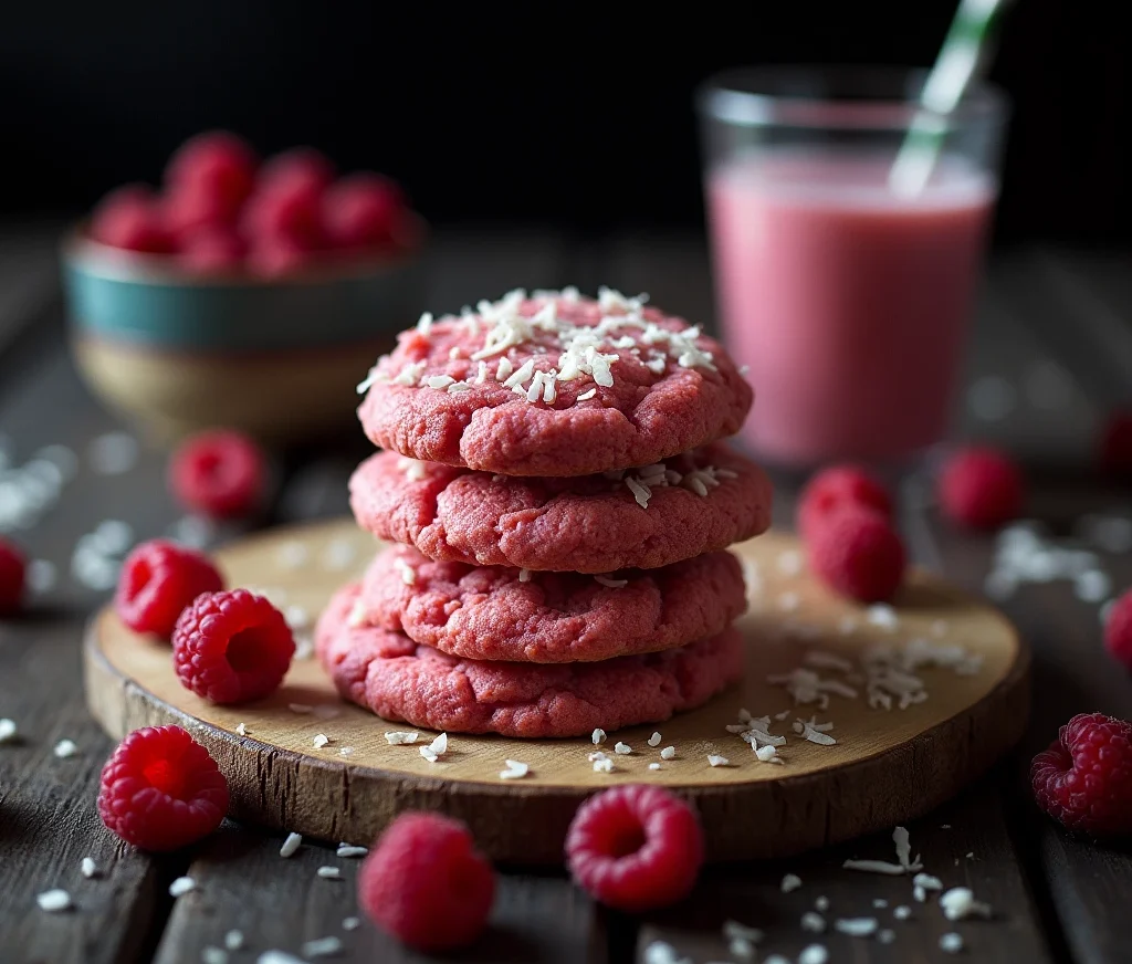
[[[160,188],[111,191],[66,238],[78,367],[157,437],[317,437],[349,423],[352,384],[419,302],[426,238],[389,178],[197,135]]]

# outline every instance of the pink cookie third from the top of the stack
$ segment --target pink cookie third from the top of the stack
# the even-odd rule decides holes
[[[572,663],[653,653],[722,632],[746,609],[730,552],[612,576],[432,562],[386,549],[362,583],[369,623],[469,660]]]

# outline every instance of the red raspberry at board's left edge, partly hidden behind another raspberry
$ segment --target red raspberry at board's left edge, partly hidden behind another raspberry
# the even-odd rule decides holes
[[[126,557],[114,610],[135,632],[169,639],[181,610],[201,593],[223,588],[224,579],[207,557],[154,539]]]

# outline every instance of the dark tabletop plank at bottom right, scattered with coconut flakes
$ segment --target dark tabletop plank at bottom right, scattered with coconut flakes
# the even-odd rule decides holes
[[[638,936],[637,959],[644,964],[649,945],[658,940],[693,961],[731,959],[723,923],[734,920],[764,932],[757,945],[760,959],[783,954],[794,961],[804,947],[821,944],[831,961],[945,962],[954,957],[940,948],[940,938],[958,932],[971,959],[1052,961],[1040,929],[1035,926],[1027,885],[1018,872],[1010,840],[1001,829],[1003,782],[1003,774],[993,775],[908,827],[912,854],[921,855],[924,871],[938,877],[945,888],[970,887],[978,900],[994,909],[990,921],[949,922],[938,907],[937,894],[929,894],[923,904],[916,902],[910,877],[842,868],[850,858],[894,860],[891,836],[880,834],[787,862],[709,873],[689,901],[663,914],[646,916]],[[974,857],[967,857],[969,853]],[[781,883],[787,873],[797,875],[803,883],[783,894]],[[827,911],[817,910],[824,903],[821,898],[829,902]],[[883,901],[884,906],[876,906],[877,901]],[[907,920],[893,913],[901,905],[911,911]],[[825,931],[805,930],[805,913],[821,916]],[[892,930],[892,941],[835,931],[837,920],[857,918],[875,919],[878,930]]]

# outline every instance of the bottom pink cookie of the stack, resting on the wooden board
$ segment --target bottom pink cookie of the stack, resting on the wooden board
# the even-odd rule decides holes
[[[601,663],[546,665],[462,660],[408,636],[351,627],[352,584],[318,621],[318,656],[345,699],[389,721],[449,733],[580,737],[668,720],[743,675],[743,637],[702,639]]]

